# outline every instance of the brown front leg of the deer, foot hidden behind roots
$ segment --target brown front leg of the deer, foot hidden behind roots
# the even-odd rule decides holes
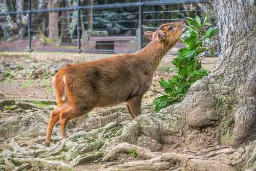
[[[127,101],[134,118],[141,114],[141,96],[135,96]],[[132,117],[133,119],[133,117]]]

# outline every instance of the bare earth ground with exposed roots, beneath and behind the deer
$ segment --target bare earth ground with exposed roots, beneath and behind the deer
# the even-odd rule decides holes
[[[96,109],[70,121],[65,140],[60,139],[57,124],[50,147],[44,141],[55,105],[53,75],[67,62],[109,55],[0,56],[0,170],[243,170],[253,164],[254,143],[233,149],[221,145],[214,127],[184,132],[182,116],[154,112],[151,103],[163,93],[158,80],[173,76],[166,67],[172,56],[164,58],[144,95],[141,116],[131,121],[123,104]]]

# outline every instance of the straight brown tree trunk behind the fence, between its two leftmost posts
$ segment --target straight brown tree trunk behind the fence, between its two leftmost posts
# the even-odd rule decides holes
[[[47,8],[58,8],[58,0],[50,0]],[[58,12],[49,13],[49,38],[58,40]]]

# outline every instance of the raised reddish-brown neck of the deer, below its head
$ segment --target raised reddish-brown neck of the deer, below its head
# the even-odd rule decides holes
[[[146,47],[136,53],[139,57],[145,59],[147,64],[145,67],[148,73],[154,74],[161,62],[161,59],[169,51],[169,49],[170,48],[168,48],[168,45],[166,46],[154,39]]]

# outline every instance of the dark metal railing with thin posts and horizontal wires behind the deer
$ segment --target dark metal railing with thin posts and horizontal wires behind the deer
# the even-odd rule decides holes
[[[28,0],[28,9],[25,11],[6,11],[6,12],[1,12],[1,16],[6,16],[6,15],[28,15],[28,21],[27,21],[27,35],[28,35],[28,51],[32,52],[32,14],[36,13],[52,13],[52,12],[65,12],[65,11],[70,11],[70,12],[75,12],[77,11],[77,16],[80,16],[82,13],[82,10],[88,10],[88,9],[93,9],[93,10],[98,10],[98,9],[116,9],[116,8],[131,8],[131,7],[136,7],[138,8],[138,13],[139,17],[138,20],[119,20],[117,22],[139,22],[138,24],[138,29],[139,29],[139,49],[142,49],[144,44],[143,44],[143,25],[144,22],[159,22],[159,21],[167,21],[167,20],[179,20],[179,18],[169,18],[169,19],[143,19],[143,14],[150,14],[151,11],[145,11],[143,12],[143,9],[146,7],[150,6],[170,6],[170,5],[179,5],[179,4],[197,4],[197,3],[208,3],[207,0],[183,0],[183,1],[177,1],[177,0],[159,0],[159,1],[143,1],[139,0],[139,2],[130,2],[130,3],[115,3],[115,4],[96,4],[96,5],[81,5],[81,0],[76,0],[77,6],[73,7],[61,7],[61,8],[52,8],[52,9],[32,9],[32,0]],[[197,9],[200,11],[200,9]],[[154,11],[155,13],[178,13],[178,12],[189,12],[191,10],[181,10],[181,9],[176,9],[176,10],[166,10],[166,11]],[[114,21],[115,22],[115,21]],[[82,52],[81,49],[81,19],[80,17],[77,17],[77,49],[44,49],[44,51],[68,51],[68,52]],[[148,27],[147,29],[155,29],[156,27]],[[125,29],[125,28],[124,28]],[[127,28],[127,30],[131,30],[132,28]],[[136,28],[134,28],[136,29]],[[106,29],[102,29],[106,30]],[[118,30],[118,29],[117,29]],[[35,31],[34,31],[35,32]],[[1,49],[1,44],[0,44],[0,50],[5,50]],[[8,49],[6,49],[8,50]],[[43,50],[43,49],[41,49]],[[118,50],[107,50],[107,49],[87,49],[85,52],[118,52]]]

